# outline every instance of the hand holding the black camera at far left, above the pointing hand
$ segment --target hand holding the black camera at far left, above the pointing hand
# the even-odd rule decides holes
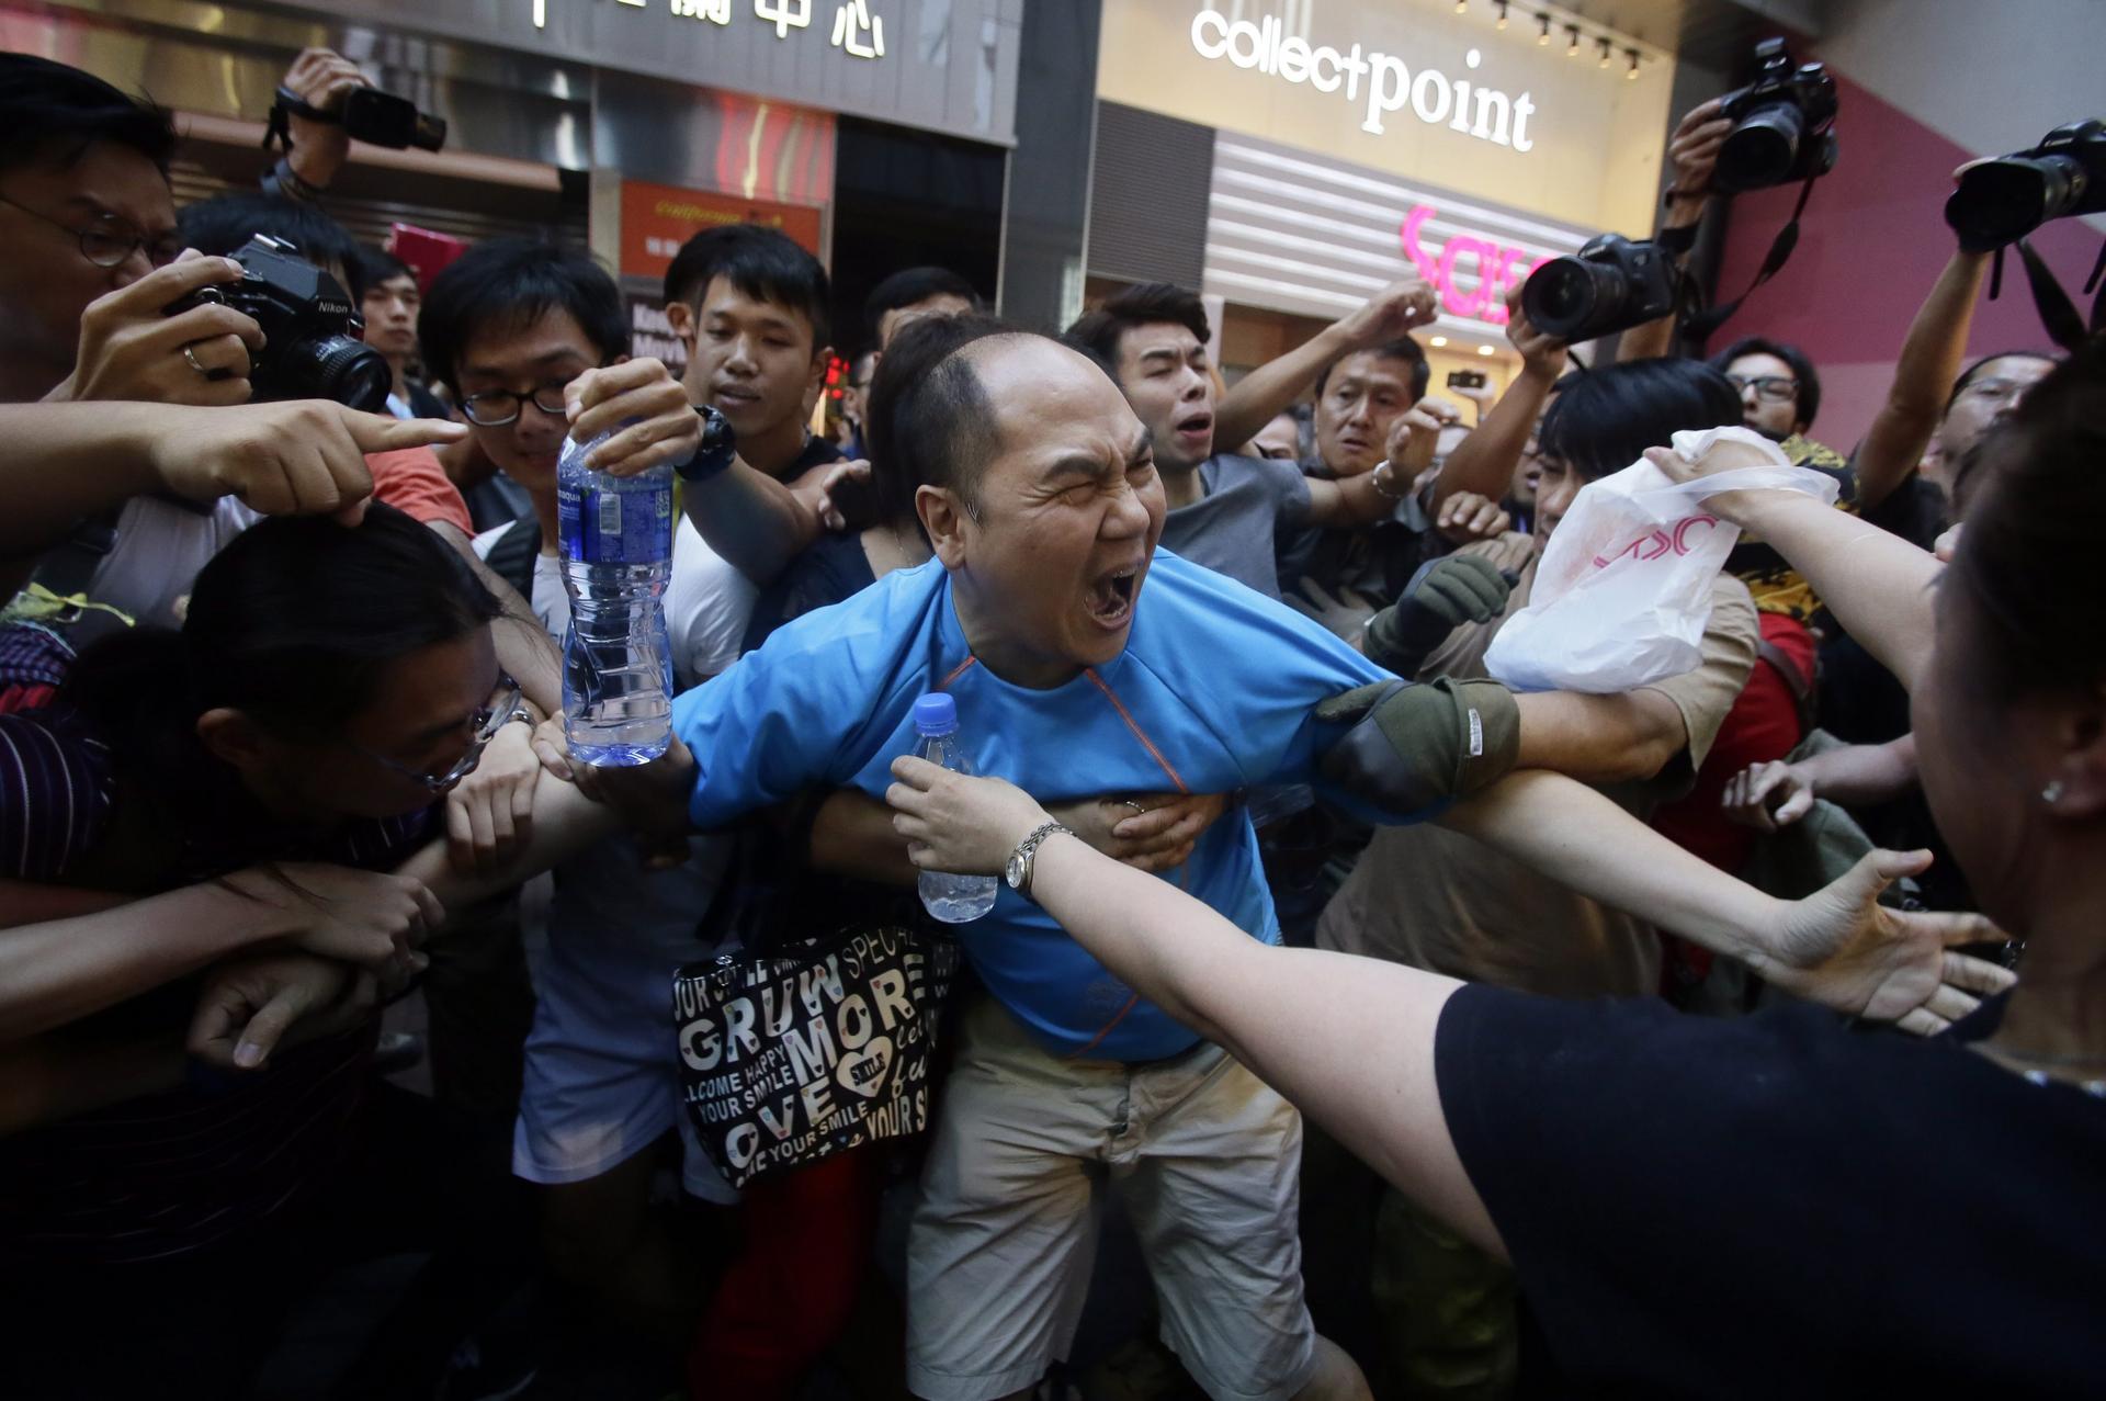
[[[166,314],[171,303],[198,289],[240,278],[242,265],[232,257],[185,251],[131,287],[97,297],[80,314],[74,373],[44,398],[143,398],[211,409],[246,404],[249,352],[263,350],[263,327],[211,301]]]

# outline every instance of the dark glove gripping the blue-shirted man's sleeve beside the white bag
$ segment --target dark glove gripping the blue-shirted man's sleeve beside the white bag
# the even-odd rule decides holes
[[[1333,695],[1316,718],[1352,725],[1323,775],[1398,817],[1489,788],[1521,754],[1521,706],[1497,680],[1377,680]]]

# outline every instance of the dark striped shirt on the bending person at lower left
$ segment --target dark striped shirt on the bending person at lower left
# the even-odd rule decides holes
[[[67,883],[114,826],[114,767],[110,746],[63,702],[0,714],[0,876]],[[383,870],[432,832],[434,809],[331,832],[291,828],[265,817],[230,771],[211,769],[162,784],[185,832],[168,887],[272,860]],[[194,1003],[185,980],[61,1034],[179,1039]],[[194,1066],[181,1089],[0,1138],[0,1260],[156,1260],[255,1226],[341,1157],[375,1034],[377,1018],[284,1049],[261,1072]]]

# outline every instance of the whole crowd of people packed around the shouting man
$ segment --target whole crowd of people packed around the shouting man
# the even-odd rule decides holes
[[[583,249],[360,246],[326,122],[183,209],[99,78],[0,55],[0,126],[4,1395],[2106,1363],[2106,343],[1965,362],[1988,255],[1839,451],[1761,335],[1582,364],[1516,289],[1504,392],[1432,392],[1405,278],[1226,383],[1190,289],[1032,329],[906,268],[836,324],[750,223],[672,261],[674,375]],[[257,236],[362,310],[377,411],[259,390],[198,295]],[[674,739],[625,769],[562,716],[558,457],[602,434],[680,480]],[[1704,497],[1740,544],[1683,672],[1508,689],[1638,461],[1834,504]],[[931,695],[981,777],[910,756]],[[927,870],[992,912],[931,921]]]

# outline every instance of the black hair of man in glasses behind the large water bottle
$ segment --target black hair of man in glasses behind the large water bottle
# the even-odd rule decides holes
[[[613,360],[630,352],[630,316],[615,278],[583,249],[548,238],[478,242],[432,278],[417,314],[417,343],[432,377],[459,390],[461,354],[478,331],[518,331],[545,312],[569,312]]]

